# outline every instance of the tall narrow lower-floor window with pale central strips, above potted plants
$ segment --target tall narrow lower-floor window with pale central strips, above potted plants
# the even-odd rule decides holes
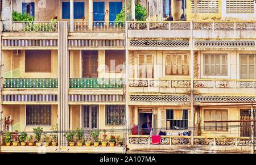
[[[82,105],[83,128],[98,128],[98,105]]]

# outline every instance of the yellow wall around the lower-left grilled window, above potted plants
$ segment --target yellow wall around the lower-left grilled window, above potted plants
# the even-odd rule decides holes
[[[3,117],[11,115],[11,120],[14,120],[11,126],[19,124],[19,132],[32,132],[37,126],[26,126],[26,105],[2,105]],[[57,124],[57,105],[52,105],[52,125]],[[40,126],[44,131],[50,131],[52,126]],[[14,131],[14,130],[12,130]]]

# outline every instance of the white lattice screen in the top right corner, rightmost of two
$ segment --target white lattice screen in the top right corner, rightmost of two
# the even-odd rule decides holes
[[[226,0],[227,13],[253,13],[254,0]]]

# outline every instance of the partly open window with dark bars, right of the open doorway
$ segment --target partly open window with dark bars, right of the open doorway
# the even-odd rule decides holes
[[[166,128],[171,130],[188,129],[188,110],[166,109]]]

